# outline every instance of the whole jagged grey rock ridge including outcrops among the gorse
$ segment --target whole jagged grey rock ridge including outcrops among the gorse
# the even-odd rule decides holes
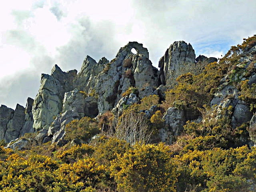
[[[137,54],[131,52],[132,48],[136,49]],[[216,58],[203,55],[195,58],[192,46],[178,41],[160,58],[158,71],[149,60],[148,50],[138,42],[129,42],[120,48],[111,61],[103,57],[96,62],[86,56],[78,74],[76,70],[63,72],[55,65],[50,75],[42,74],[39,92],[35,100],[28,98],[26,108],[20,105],[15,110],[0,107],[0,139],[10,142],[25,133],[38,132],[35,138],[38,142],[51,141],[61,146],[66,143],[65,126],[72,120],[79,120],[84,116],[95,118],[106,111],[120,116],[124,106],[139,103],[145,96],[153,94],[158,95],[161,102],[165,99],[166,90],[173,86],[172,78],[181,73],[179,70],[185,63],[216,61]],[[251,61],[250,54],[240,60],[248,64]],[[215,92],[211,106],[217,105],[217,111],[225,106],[232,106],[232,127],[235,128],[251,120],[252,113],[248,104],[238,98],[238,90],[226,78],[222,79]],[[249,84],[255,83],[256,74],[253,73],[248,79]],[[127,93],[129,89],[136,91]],[[152,106],[145,111],[145,116],[150,118],[156,109],[156,106]],[[167,110],[163,118],[166,127],[159,130],[159,137],[163,142],[170,144],[173,136],[183,130],[188,120],[186,113],[188,112],[174,107]],[[19,142],[18,146],[23,146],[28,140],[16,142]]]

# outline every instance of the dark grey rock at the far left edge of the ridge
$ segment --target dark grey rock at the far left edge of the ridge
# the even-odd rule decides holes
[[[14,110],[6,107],[5,105],[0,106],[0,140],[4,139],[7,124],[13,117]]]

